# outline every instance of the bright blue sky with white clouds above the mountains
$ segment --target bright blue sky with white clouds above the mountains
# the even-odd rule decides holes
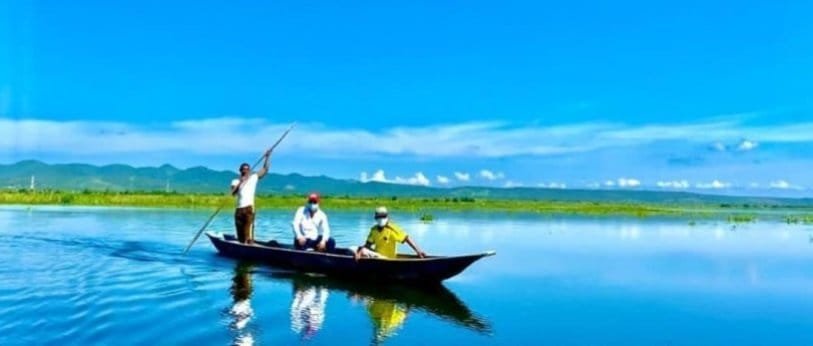
[[[809,1],[2,6],[3,162],[813,189]]]

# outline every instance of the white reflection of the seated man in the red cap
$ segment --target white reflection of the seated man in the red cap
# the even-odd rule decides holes
[[[291,330],[302,339],[313,338],[325,322],[328,290],[321,286],[305,286],[294,281],[294,301],[291,304]]]

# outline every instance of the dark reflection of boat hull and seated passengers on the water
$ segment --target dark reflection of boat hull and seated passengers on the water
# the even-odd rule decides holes
[[[406,285],[369,285],[353,281],[313,276],[300,273],[270,273],[277,280],[290,280],[294,286],[295,301],[292,304],[292,326],[301,323],[302,316],[307,316],[307,323],[316,325],[317,331],[325,317],[327,291],[344,291],[352,299],[364,303],[374,327],[374,342],[380,342],[396,333],[412,311],[423,311],[445,321],[452,322],[469,330],[490,334],[491,325],[485,319],[476,316],[454,293],[442,285],[414,287]],[[314,304],[315,310],[307,310],[303,315],[294,311],[298,293],[302,292],[303,300],[316,300],[317,292],[324,292],[320,304]],[[304,298],[310,295],[312,298]],[[294,319],[297,321],[294,321]]]

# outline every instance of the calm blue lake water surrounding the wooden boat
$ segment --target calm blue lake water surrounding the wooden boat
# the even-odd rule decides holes
[[[340,244],[364,239],[369,213],[329,215]],[[0,208],[0,344],[813,344],[809,226],[395,215],[427,252],[497,251],[423,292],[238,263],[206,239],[179,255],[207,216]],[[261,211],[258,237],[287,239],[289,218]]]

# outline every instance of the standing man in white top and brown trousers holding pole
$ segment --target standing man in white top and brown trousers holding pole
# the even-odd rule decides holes
[[[237,197],[234,227],[237,230],[237,240],[241,243],[254,243],[254,194],[257,191],[257,182],[268,173],[270,155],[270,150],[265,152],[263,168],[256,173],[251,173],[251,166],[247,163],[240,165],[240,178],[231,182],[231,194]]]

